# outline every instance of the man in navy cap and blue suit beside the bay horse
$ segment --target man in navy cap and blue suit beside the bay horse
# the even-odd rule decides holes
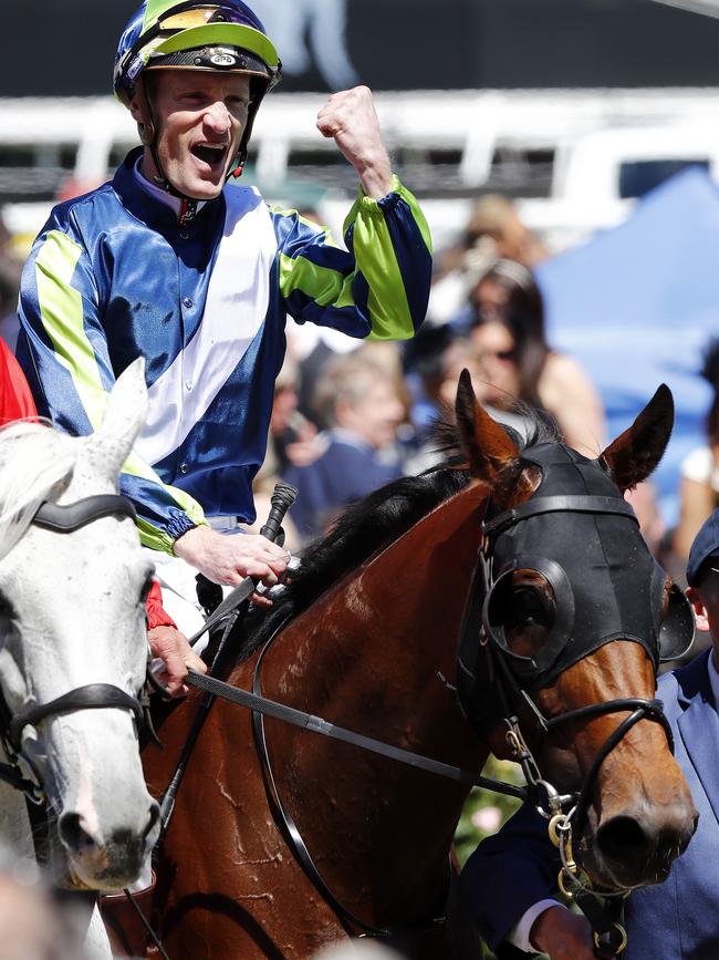
[[[712,646],[660,677],[657,695],[699,825],[668,878],[628,898],[625,960],[719,957],[719,510],[696,536],[687,582],[697,629],[710,632]],[[483,840],[468,860],[461,879],[466,909],[502,960],[536,952],[551,960],[595,957],[587,920],[551,899],[558,871],[546,820],[529,807]]]

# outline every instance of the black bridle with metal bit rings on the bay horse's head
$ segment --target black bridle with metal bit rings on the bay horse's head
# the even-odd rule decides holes
[[[566,578],[564,571],[554,561],[546,561],[536,557],[522,557],[521,553],[496,576],[493,555],[497,539],[502,534],[510,530],[517,533],[517,528],[523,522],[550,513],[614,516],[638,524],[634,510],[619,495],[614,497],[567,494],[540,496],[530,498],[519,506],[503,510],[486,520],[477,568],[476,579],[478,582],[476,582],[460,636],[457,661],[458,694],[462,711],[481,735],[486,736],[491,729],[500,723],[506,727],[506,740],[511,756],[520,764],[527,781],[528,803],[549,822],[550,839],[559,848],[562,863],[559,886],[567,897],[575,899],[590,919],[593,927],[595,954],[601,958],[612,958],[626,946],[626,932],[621,919],[623,901],[628,891],[619,891],[602,902],[592,889],[588,877],[575,861],[573,839],[575,836],[581,836],[584,828],[592,791],[602,764],[632,727],[642,720],[658,723],[666,734],[669,750],[673,753],[674,736],[661,701],[656,699],[621,698],[604,703],[588,704],[548,718],[530,695],[528,687],[538,685],[538,675],[541,675],[539,664],[531,658],[513,657],[501,642],[501,637],[498,636],[491,620],[493,591],[502,577],[511,577],[513,570],[525,565],[548,575],[549,578],[553,578],[555,584],[558,581],[562,584]],[[675,598],[673,601],[679,602]],[[572,609],[571,612],[573,615],[574,610]],[[688,603],[687,616],[691,617]],[[692,621],[691,624],[691,630],[687,631],[686,637],[688,642],[684,643],[685,650],[688,649],[694,637]],[[681,629],[681,620],[678,620],[676,616],[673,626],[675,629]],[[609,642],[611,639],[611,637],[606,638],[603,642]],[[646,638],[638,642],[642,642],[642,646],[647,650],[656,674],[661,659],[658,637],[654,643]],[[571,662],[576,662],[588,656],[598,646],[602,643],[595,643],[594,647],[587,647],[587,649],[575,650],[573,652],[574,660]],[[681,647],[682,644],[677,641],[677,646]],[[480,658],[483,659],[484,663],[483,669],[478,671],[477,665]],[[562,644],[558,643],[555,649],[549,651],[544,677],[551,677],[553,672],[559,673],[567,665],[570,665],[569,662],[562,662]],[[487,678],[483,683],[479,681],[480,673]],[[539,685],[542,683],[540,682]],[[482,695],[479,698],[481,706],[475,709],[472,700],[477,698],[478,688],[481,688],[482,691]],[[489,719],[486,715],[488,701],[493,703],[494,708],[490,709]],[[481,711],[483,714],[479,723],[476,722],[477,711]],[[531,718],[533,730],[529,733],[528,739],[538,744],[541,744],[558,727],[575,721],[593,720],[612,713],[627,713],[628,715],[602,744],[584,775],[579,791],[562,795],[542,777],[539,765],[520,729],[518,716],[520,711]]]

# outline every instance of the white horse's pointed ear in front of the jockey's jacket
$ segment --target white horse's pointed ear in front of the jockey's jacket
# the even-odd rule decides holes
[[[102,452],[113,478],[127,460],[147,417],[145,358],[138,357],[117,378],[103,423],[91,443]]]

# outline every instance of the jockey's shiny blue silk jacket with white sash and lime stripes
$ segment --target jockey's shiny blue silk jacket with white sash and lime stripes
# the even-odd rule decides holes
[[[53,209],[23,272],[18,359],[40,414],[82,435],[100,426],[115,379],[146,358],[149,414],[119,485],[143,543],[171,553],[205,516],[254,520],[286,314],[357,338],[411,337],[431,241],[396,177],[383,199],[359,196],[347,250],[233,184],[184,224],[140,177],[140,156]]]

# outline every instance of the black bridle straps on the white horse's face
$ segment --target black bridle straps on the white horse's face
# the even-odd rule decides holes
[[[108,516],[137,519],[135,507],[124,496],[98,494],[84,497],[73,504],[59,506],[45,500],[40,505],[31,524],[58,534],[70,534],[87,524]],[[46,797],[32,763],[22,755],[22,733],[27,726],[37,726],[49,716],[74,713],[79,710],[129,710],[138,726],[143,724],[148,703],[143,692],[132,696],[119,687],[110,683],[86,683],[56,696],[49,703],[40,703],[11,713],[0,691],[0,740],[9,763],[0,764],[0,780],[24,793],[34,805],[46,805]]]

